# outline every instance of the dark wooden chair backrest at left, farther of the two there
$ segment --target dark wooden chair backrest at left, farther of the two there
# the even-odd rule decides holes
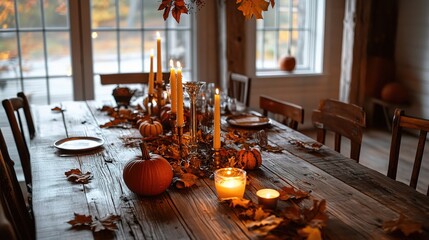
[[[25,129],[23,127],[23,118],[21,113],[24,112],[25,120],[27,122],[28,132],[30,139],[35,136],[35,127],[33,118],[31,116],[30,104],[24,93],[18,93],[15,98],[4,99],[3,108],[9,120],[9,125],[12,130],[13,138],[18,149],[19,158],[21,160],[22,170],[24,172],[25,182],[27,186],[31,186],[31,164],[30,164],[30,151],[25,137]]]

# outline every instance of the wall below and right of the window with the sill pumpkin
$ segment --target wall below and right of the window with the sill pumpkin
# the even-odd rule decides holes
[[[251,107],[258,108],[259,96],[263,94],[290,101],[304,107],[304,126],[300,128],[312,127],[311,112],[318,107],[319,100],[323,98],[338,99],[339,96],[344,8],[344,0],[326,1],[324,67],[322,74],[270,78],[256,77],[254,68],[248,67],[249,72],[247,74],[252,76]],[[254,40],[248,41],[249,44],[252,41]],[[254,49],[255,45],[249,46],[249,51],[255,51]]]

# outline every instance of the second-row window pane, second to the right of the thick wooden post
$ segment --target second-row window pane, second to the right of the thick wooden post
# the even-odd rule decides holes
[[[141,32],[121,32],[121,71],[142,71]]]

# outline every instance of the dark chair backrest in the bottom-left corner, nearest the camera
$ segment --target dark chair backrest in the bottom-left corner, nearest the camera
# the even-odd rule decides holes
[[[34,239],[34,220],[25,203],[13,165],[0,130],[0,202],[18,239]]]

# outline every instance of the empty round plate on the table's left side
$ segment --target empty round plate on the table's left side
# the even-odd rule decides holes
[[[54,146],[66,151],[84,151],[98,148],[104,144],[104,140],[98,137],[69,137],[58,140]]]

